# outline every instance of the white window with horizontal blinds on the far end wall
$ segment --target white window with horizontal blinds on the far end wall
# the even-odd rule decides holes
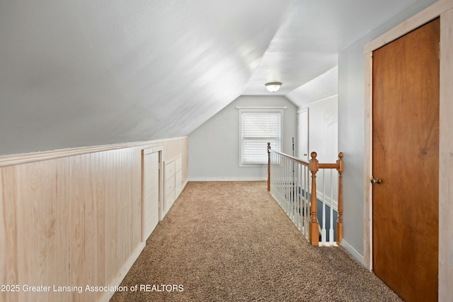
[[[241,138],[240,165],[265,165],[270,147],[280,151],[282,110],[241,109],[239,137]]]

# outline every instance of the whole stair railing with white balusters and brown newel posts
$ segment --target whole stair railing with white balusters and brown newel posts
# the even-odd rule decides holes
[[[343,238],[343,153],[338,154],[337,163],[319,163],[316,152],[311,153],[309,165],[273,151],[268,144],[267,190],[280,204],[289,218],[299,228],[311,245],[338,245]],[[316,173],[321,168],[322,214],[320,229],[317,210]],[[330,197],[326,194],[326,172],[330,170]],[[338,219],[333,227],[333,168],[338,170]],[[309,182],[311,173],[311,182]],[[319,185],[319,184],[318,184]],[[330,200],[329,221],[326,221],[326,204]],[[328,223],[328,234],[327,234]],[[321,231],[321,243],[319,233]],[[328,236],[327,236],[328,235]]]

